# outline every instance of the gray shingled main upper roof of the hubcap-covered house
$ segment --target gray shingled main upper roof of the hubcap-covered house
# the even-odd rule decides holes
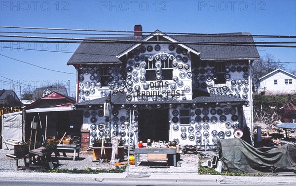
[[[231,34],[251,35],[249,32],[238,32]],[[180,42],[254,42],[253,37],[235,37],[235,36],[188,36],[178,35],[170,37]],[[91,37],[96,39],[118,39],[118,40],[143,40],[146,37]],[[133,46],[134,44],[121,43],[81,43],[72,55],[67,64],[79,63],[99,63],[110,62],[120,63],[116,55]],[[221,60],[221,59],[257,59],[259,54],[255,46],[220,46],[220,45],[188,45],[192,49],[201,52],[201,60]]]

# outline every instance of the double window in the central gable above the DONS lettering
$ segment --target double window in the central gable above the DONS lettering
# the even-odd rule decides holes
[[[145,60],[146,65],[146,81],[155,81],[156,80],[156,72],[157,66],[159,65],[161,68],[161,80],[172,80],[173,78],[173,66],[172,62],[173,60],[169,59],[167,56],[167,59],[159,59],[159,61],[154,59],[152,61],[148,61],[148,59]],[[159,64],[159,62],[161,64]]]

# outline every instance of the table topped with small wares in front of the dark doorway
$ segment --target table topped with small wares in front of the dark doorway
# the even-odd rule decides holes
[[[169,154],[174,155],[174,167],[177,166],[176,162],[176,149],[170,148],[135,148],[134,154],[135,158],[135,166],[137,166],[138,161],[140,162],[140,154]]]

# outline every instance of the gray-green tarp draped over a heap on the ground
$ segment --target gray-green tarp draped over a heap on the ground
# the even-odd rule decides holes
[[[230,172],[290,172],[296,168],[296,146],[286,144],[265,153],[239,138],[220,140],[220,159]]]

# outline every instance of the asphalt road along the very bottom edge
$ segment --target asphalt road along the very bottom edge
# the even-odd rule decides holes
[[[225,184],[206,184],[206,183],[194,183],[192,185],[186,186],[246,186],[246,185],[225,185]],[[60,181],[34,181],[34,180],[3,180],[0,179],[0,186],[176,186],[176,183],[127,183],[124,184],[122,182],[60,182]],[[249,185],[248,185],[249,186]],[[250,185],[250,186],[258,186],[258,185]],[[273,185],[264,185],[264,186],[273,186]],[[289,186],[289,185],[285,185]],[[291,185],[292,186],[292,185]],[[293,185],[295,186],[295,185]]]

